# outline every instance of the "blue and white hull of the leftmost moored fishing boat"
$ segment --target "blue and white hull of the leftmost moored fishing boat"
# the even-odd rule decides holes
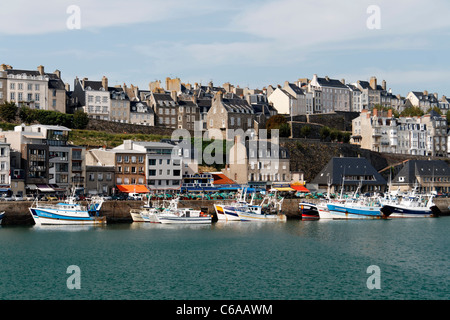
[[[87,211],[29,208],[37,225],[96,225],[106,223],[106,217],[92,217]]]

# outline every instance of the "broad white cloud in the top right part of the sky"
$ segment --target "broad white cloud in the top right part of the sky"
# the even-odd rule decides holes
[[[369,30],[367,8],[373,1],[280,0],[237,15],[232,29],[263,39],[309,48],[323,43],[371,36],[415,34],[450,26],[450,3],[445,0],[377,0],[381,29]]]

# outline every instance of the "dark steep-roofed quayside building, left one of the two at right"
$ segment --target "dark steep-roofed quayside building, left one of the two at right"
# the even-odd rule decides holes
[[[311,181],[311,186],[331,193],[384,192],[386,179],[370,164],[366,158],[335,157]]]

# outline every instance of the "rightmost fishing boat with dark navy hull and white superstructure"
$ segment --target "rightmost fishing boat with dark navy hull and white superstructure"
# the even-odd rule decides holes
[[[432,218],[439,216],[439,209],[433,202],[434,195],[411,195],[403,197],[398,203],[387,203],[381,208],[392,218]]]

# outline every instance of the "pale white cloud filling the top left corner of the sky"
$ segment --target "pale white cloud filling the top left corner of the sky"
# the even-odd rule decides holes
[[[221,7],[206,0],[15,0],[2,4],[0,34],[46,34],[67,30],[67,8],[80,8],[81,28],[95,29],[142,22],[177,21]]]

